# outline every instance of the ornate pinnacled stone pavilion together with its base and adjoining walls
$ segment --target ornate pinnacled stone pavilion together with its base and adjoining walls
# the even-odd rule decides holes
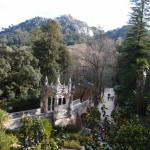
[[[73,101],[71,86],[71,78],[67,86],[60,83],[59,72],[55,84],[49,84],[46,77],[42,90],[43,97],[40,108],[10,113],[9,115],[12,119],[10,124],[7,125],[7,128],[19,128],[20,119],[24,115],[47,118],[55,125],[77,124],[80,116],[87,113],[88,107],[93,106],[93,103],[90,99],[84,102],[81,102],[80,99]]]

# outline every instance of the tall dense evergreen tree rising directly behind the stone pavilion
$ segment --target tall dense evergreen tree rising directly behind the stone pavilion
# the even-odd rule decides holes
[[[37,33],[33,42],[34,56],[39,59],[42,75],[54,81],[57,70],[63,72],[68,67],[69,53],[61,44],[60,27],[56,21],[50,20],[38,32],[40,35]]]

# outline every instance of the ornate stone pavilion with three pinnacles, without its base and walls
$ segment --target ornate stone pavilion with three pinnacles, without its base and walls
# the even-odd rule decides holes
[[[71,78],[68,86],[60,83],[60,74],[57,74],[57,81],[55,84],[49,84],[48,78],[45,78],[43,87],[43,98],[41,100],[41,112],[59,112],[71,110],[72,94],[71,94]]]

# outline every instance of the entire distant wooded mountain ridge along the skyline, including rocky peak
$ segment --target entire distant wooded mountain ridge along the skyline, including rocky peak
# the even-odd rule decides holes
[[[31,31],[38,26],[45,25],[48,20],[48,18],[35,17],[18,25],[4,28],[3,31],[0,32],[0,44],[6,44],[13,49],[29,46]],[[55,20],[58,21],[61,26],[63,35],[62,42],[66,45],[84,43],[86,42],[87,36],[99,38],[102,35],[106,35],[116,40],[118,35],[124,37],[126,33],[126,27],[123,27],[123,30],[120,28],[104,33],[103,30],[97,27],[89,27],[85,22],[74,19],[71,15],[62,15],[55,18]],[[123,32],[120,32],[120,30]]]

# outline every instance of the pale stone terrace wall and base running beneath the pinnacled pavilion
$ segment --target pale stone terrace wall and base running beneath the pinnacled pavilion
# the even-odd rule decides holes
[[[51,120],[55,125],[65,126],[67,124],[75,124],[77,116],[81,116],[83,113],[87,112],[87,108],[92,106],[92,102],[90,100],[86,100],[84,102],[80,102],[80,100],[73,101],[73,107],[71,109],[71,113],[68,114],[67,110],[63,109],[63,106],[61,109],[58,109],[58,111],[51,111],[47,113],[41,113],[41,108],[38,109],[32,109],[32,110],[26,110],[26,111],[20,111],[20,112],[14,112],[10,113],[9,115],[12,117],[9,124],[6,125],[7,128],[10,129],[16,129],[20,127],[20,119],[24,116],[39,116],[41,118],[47,118]]]

